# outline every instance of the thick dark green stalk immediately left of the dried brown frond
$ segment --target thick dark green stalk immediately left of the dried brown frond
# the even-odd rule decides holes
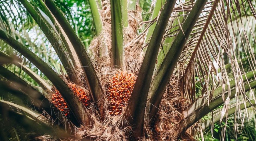
[[[150,89],[150,113],[148,116],[148,120],[150,120],[150,125],[154,124],[154,117],[158,111],[159,104],[161,102],[163,93],[165,88],[170,80],[170,76],[178,62],[179,56],[185,46],[185,43],[196,24],[196,21],[201,14],[207,0],[197,0],[196,4],[191,9],[188,17],[186,18],[182,30],[179,31],[178,35],[176,36],[175,40],[168,51],[166,58],[164,59],[162,65],[159,68],[159,71],[156,73],[154,77],[151,89]],[[154,35],[154,34],[153,34]]]

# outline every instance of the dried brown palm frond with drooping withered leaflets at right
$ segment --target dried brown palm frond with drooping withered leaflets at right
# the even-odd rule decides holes
[[[246,83],[255,78],[255,58],[252,51],[254,43],[252,41],[249,42],[248,35],[254,33],[250,24],[246,25],[242,20],[242,13],[246,13],[242,11],[245,10],[244,4],[246,4],[246,1],[239,1],[239,3],[235,4],[232,1],[228,1],[228,3],[221,1],[217,5],[214,4],[213,6],[216,8],[214,11],[211,10],[209,14],[212,18],[206,21],[209,26],[205,24],[201,28],[200,34],[191,38],[194,43],[188,44],[187,50],[184,51],[183,59],[180,58],[181,66],[184,68],[184,71],[181,72],[182,81],[185,82],[185,84],[182,84],[184,86],[182,88],[183,93],[187,94],[186,97],[192,102],[188,110],[185,111],[193,113],[193,110],[203,105],[203,101],[208,101],[210,105],[211,102],[209,103],[209,101],[215,99],[216,95],[225,94],[226,96],[223,96],[223,101],[225,101],[223,112],[221,113],[221,117],[223,117],[228,112],[228,104],[233,98],[232,89],[236,89],[236,104],[239,104],[240,101],[238,93],[242,95],[244,103],[245,100],[248,100],[245,95],[245,87],[248,86]],[[235,12],[234,9],[238,10],[238,12]],[[248,22],[246,15],[245,18]],[[240,27],[244,30],[242,31],[243,35],[239,30],[236,30]],[[245,32],[245,28],[249,30]],[[238,41],[241,41],[241,44]],[[239,53],[241,48],[245,51],[244,55]],[[241,56],[245,58],[241,59]],[[248,61],[247,66],[250,66],[249,69],[247,69],[248,67],[245,68],[245,64],[242,63],[244,61]],[[249,72],[250,76],[247,78],[249,73],[245,72],[249,70],[252,71]],[[230,81],[230,76],[234,77],[232,81]],[[199,77],[198,84],[202,87],[202,96],[197,99],[195,95],[196,77]],[[185,112],[184,115],[187,116],[187,113]]]

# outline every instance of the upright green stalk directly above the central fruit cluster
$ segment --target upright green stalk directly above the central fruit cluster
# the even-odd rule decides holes
[[[111,29],[112,29],[112,65],[122,68],[124,65],[123,20],[121,0],[111,0]]]

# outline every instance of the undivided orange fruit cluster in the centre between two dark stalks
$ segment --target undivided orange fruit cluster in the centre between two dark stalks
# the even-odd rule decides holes
[[[130,100],[131,93],[135,84],[133,73],[119,72],[108,81],[107,98],[109,101],[109,114],[121,115],[123,109]]]

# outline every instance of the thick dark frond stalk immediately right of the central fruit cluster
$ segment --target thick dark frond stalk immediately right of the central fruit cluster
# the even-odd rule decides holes
[[[145,53],[136,84],[132,91],[132,96],[126,110],[127,121],[133,125],[133,136],[139,138],[143,133],[144,113],[147,103],[150,82],[153,76],[155,61],[157,59],[158,50],[165,32],[165,28],[169,21],[169,17],[174,8],[176,1],[166,1],[163,10],[160,13],[156,28],[152,34],[150,43]]]

